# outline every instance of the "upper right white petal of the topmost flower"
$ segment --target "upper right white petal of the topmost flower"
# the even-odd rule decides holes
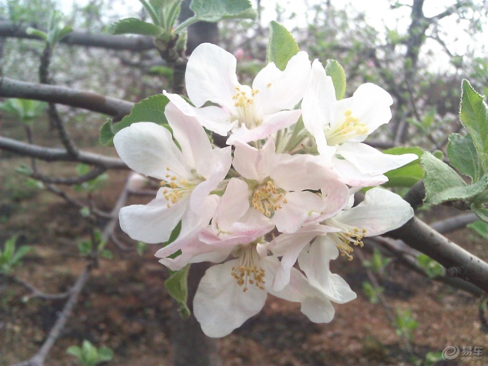
[[[255,101],[260,114],[265,116],[283,109],[293,109],[303,98],[310,73],[309,56],[303,51],[293,56],[283,71],[274,63],[264,67],[252,83],[252,88],[259,90]]]

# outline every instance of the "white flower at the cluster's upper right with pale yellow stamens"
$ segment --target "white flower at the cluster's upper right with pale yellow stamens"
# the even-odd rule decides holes
[[[392,103],[391,96],[372,83],[360,85],[351,98],[336,100],[332,78],[318,60],[312,64],[310,87],[301,105],[303,122],[320,155],[332,159],[350,186],[382,184],[388,180],[383,173],[418,159],[415,154],[383,154],[362,143],[388,123]]]

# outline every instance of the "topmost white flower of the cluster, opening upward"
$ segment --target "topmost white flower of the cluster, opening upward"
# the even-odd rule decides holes
[[[203,43],[192,52],[185,75],[188,97],[196,108],[178,95],[166,96],[210,131],[222,136],[232,131],[227,144],[266,138],[298,121],[301,111],[293,108],[309,83],[307,53],[293,56],[283,71],[268,64],[256,75],[252,87],[239,83],[236,66],[231,53]],[[204,107],[208,101],[222,108]]]

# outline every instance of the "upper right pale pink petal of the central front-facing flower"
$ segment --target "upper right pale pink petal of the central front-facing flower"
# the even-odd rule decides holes
[[[308,154],[277,154],[270,176],[277,187],[286,191],[318,190],[338,179],[338,175],[322,166],[320,160]]]

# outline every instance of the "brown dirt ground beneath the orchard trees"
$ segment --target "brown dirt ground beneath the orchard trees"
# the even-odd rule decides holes
[[[8,122],[2,128],[5,135],[14,131]],[[81,131],[73,132],[82,135]],[[96,150],[106,153],[109,149]],[[15,275],[46,293],[66,291],[86,265],[77,244],[88,237],[88,226],[77,208],[49,192],[26,186],[24,178],[14,172],[21,162],[28,160],[1,153],[0,243],[19,234],[18,244],[31,245],[34,250]],[[67,175],[73,171],[67,164],[42,164],[41,168],[63,172],[60,174],[66,170]],[[111,209],[126,175],[126,171],[109,172],[105,189],[95,194],[100,208]],[[131,202],[137,200],[142,199],[133,198]],[[424,212],[431,221],[453,214],[450,208]],[[487,243],[469,230],[448,236],[488,259]],[[93,270],[46,365],[76,365],[66,349],[81,345],[83,339],[114,351],[114,359],[107,365],[171,365],[170,313],[174,305],[163,285],[167,270],[153,256],[158,246],[149,245],[142,256],[135,251],[120,251],[113,243],[108,248],[114,259],[102,260]],[[370,256],[366,249],[363,251]],[[311,323],[300,312],[299,304],[270,296],[258,315],[217,340],[223,365],[414,365],[382,305],[372,304],[364,295],[362,282],[367,277],[359,261],[339,258],[331,268],[347,280],[358,297],[347,304],[336,304],[336,316],[330,324]],[[482,360],[457,359],[435,365],[488,365],[488,335],[478,318],[479,299],[432,282],[395,262],[387,266],[380,282],[388,304],[393,309],[410,309],[418,322],[412,340],[418,359],[447,346],[479,346],[484,347]],[[0,366],[33,356],[65,303],[44,299],[24,302],[22,298],[27,294],[23,286],[0,276]]]

